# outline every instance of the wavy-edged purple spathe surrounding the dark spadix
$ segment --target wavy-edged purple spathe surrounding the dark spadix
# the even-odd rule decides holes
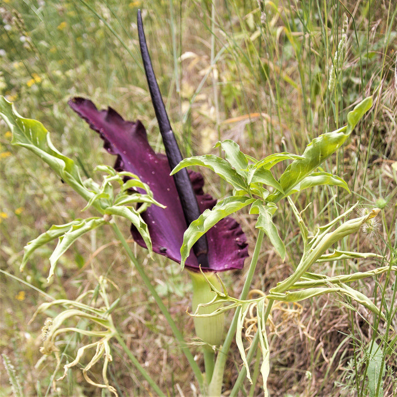
[[[181,262],[183,234],[187,229],[182,206],[170,167],[165,155],[153,151],[147,141],[143,125],[125,121],[115,110],[98,111],[88,99],[73,98],[69,106],[83,118],[105,141],[105,149],[117,155],[115,169],[136,174],[153,192],[154,199],[166,205],[160,208],[151,205],[141,214],[147,223],[152,240],[153,251],[175,262]],[[198,172],[189,172],[193,189],[197,196],[201,212],[212,208],[216,200],[204,194],[203,178]],[[134,226],[131,227],[133,239],[146,248]],[[220,220],[206,233],[208,241],[208,268],[203,270],[223,271],[241,269],[248,257],[246,236],[240,225],[232,218]],[[199,269],[193,250],[185,264],[193,270]]]

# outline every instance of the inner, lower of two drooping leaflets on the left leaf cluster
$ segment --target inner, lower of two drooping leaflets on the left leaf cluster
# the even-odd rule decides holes
[[[69,230],[59,237],[57,247],[50,256],[51,266],[47,280],[50,281],[51,277],[54,275],[55,267],[60,257],[80,236],[106,222],[104,218],[96,216],[93,218],[81,219],[80,222],[72,224]]]

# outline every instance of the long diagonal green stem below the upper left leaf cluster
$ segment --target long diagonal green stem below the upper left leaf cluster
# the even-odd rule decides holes
[[[143,267],[138,263],[138,261],[136,260],[135,256],[133,255],[133,253],[131,251],[131,248],[129,247],[126,239],[124,238],[124,236],[122,234],[122,232],[117,227],[117,225],[116,225],[116,223],[114,221],[111,222],[111,225],[112,225],[112,228],[113,228],[117,238],[122,243],[124,249],[127,252],[127,255],[129,256],[129,258],[131,259],[133,265],[135,266],[135,269],[140,274],[140,276],[142,278],[142,281],[144,282],[146,288],[151,293],[152,297],[154,298],[154,300],[157,303],[157,306],[161,310],[161,313],[163,313],[165,319],[167,320],[168,324],[170,325],[171,330],[174,333],[175,338],[180,343],[181,349],[182,349],[183,353],[185,354],[185,357],[188,360],[188,362],[189,362],[189,364],[190,364],[190,366],[192,368],[192,371],[194,372],[194,374],[196,376],[197,382],[199,383],[200,390],[203,390],[204,383],[203,383],[203,378],[202,378],[202,374],[201,374],[200,368],[199,368],[198,364],[196,363],[192,353],[190,352],[190,350],[186,346],[186,343],[185,343],[185,340],[184,340],[184,337],[183,337],[181,331],[178,330],[178,328],[177,328],[174,320],[172,319],[170,313],[168,312],[168,310],[165,307],[163,301],[161,300],[161,298],[157,294],[156,290],[154,289],[153,285],[151,284],[150,279],[147,277],[145,271],[143,270]]]

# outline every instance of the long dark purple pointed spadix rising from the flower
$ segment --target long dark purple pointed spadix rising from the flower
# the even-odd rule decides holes
[[[153,66],[150,60],[149,52],[147,50],[145,33],[143,31],[142,17],[140,10],[137,15],[137,26],[139,36],[140,53],[142,56],[143,66],[145,68],[146,79],[149,86],[150,96],[154,111],[156,113],[157,122],[160,128],[161,136],[163,138],[165,152],[170,164],[171,170],[175,168],[180,161],[182,161],[182,154],[179,150],[177,140],[174,132],[172,132],[171,125],[165,110],[164,102],[161,97],[160,89],[154,75]],[[192,184],[189,179],[188,171],[184,168],[173,175],[175,186],[177,188],[178,196],[181,200],[184,217],[189,226],[200,215],[199,204],[196,195],[193,191]],[[208,243],[206,236],[202,236],[193,246],[193,251],[203,267],[208,266]]]

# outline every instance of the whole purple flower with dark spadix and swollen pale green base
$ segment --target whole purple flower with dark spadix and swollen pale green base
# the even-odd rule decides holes
[[[105,148],[117,155],[115,169],[137,175],[140,181],[150,187],[153,198],[165,205],[165,208],[152,205],[141,216],[147,224],[153,251],[181,263],[180,249],[184,232],[205,209],[212,209],[216,200],[203,193],[203,178],[199,173],[188,173],[186,169],[182,169],[173,177],[170,176],[171,170],[182,161],[182,155],[151,65],[140,12],[137,25],[146,78],[167,155],[153,151],[139,121],[125,121],[111,108],[98,111],[88,99],[73,98],[69,105],[93,130],[100,133],[105,141]],[[146,247],[133,224],[131,233],[137,244]],[[206,303],[212,297],[206,279],[199,269],[216,283],[213,272],[241,269],[246,257],[248,247],[245,234],[240,225],[230,217],[219,220],[205,235],[199,237],[185,260],[193,281],[194,310],[199,303]],[[195,328],[197,336],[208,346],[218,345],[222,342],[224,331],[223,315],[211,319],[196,318]],[[204,350],[208,355],[213,355],[212,348]]]

